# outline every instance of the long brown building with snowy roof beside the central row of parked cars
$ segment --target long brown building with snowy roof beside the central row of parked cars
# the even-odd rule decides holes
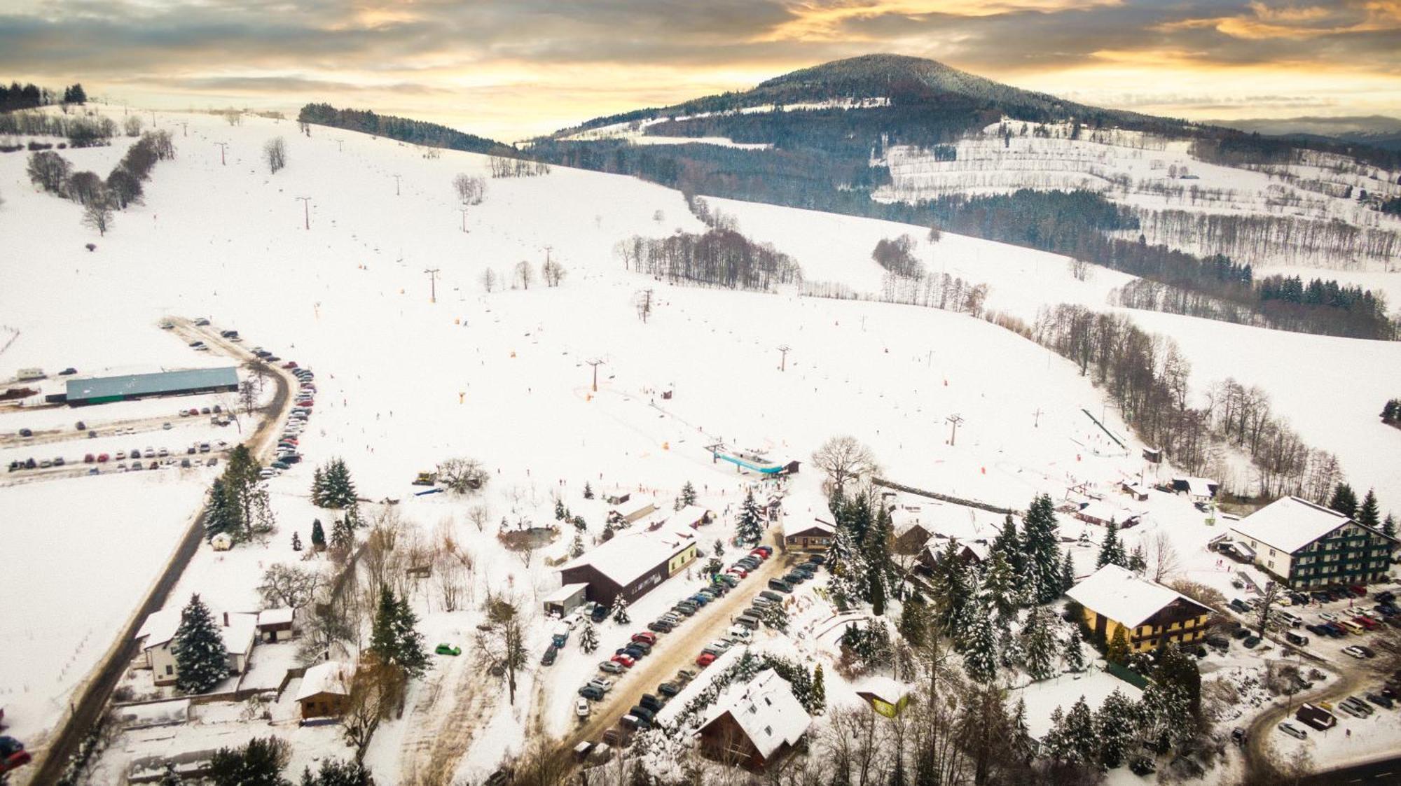
[[[632,603],[696,558],[689,531],[622,533],[570,559],[559,569],[562,585],[588,585],[584,600],[611,606]]]

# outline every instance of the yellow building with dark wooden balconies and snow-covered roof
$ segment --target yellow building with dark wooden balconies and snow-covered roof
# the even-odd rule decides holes
[[[1212,610],[1138,573],[1105,565],[1066,592],[1084,608],[1096,636],[1112,641],[1124,628],[1129,650],[1146,652],[1168,642],[1189,643],[1206,635]]]

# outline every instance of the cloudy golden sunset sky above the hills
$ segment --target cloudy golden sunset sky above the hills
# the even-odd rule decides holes
[[[891,52],[1177,117],[1401,116],[1401,0],[3,0],[0,78],[520,140]]]

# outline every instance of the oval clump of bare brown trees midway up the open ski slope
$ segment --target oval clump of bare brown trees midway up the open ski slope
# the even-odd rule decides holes
[[[733,229],[678,232],[665,238],[633,235],[615,252],[629,270],[671,284],[769,291],[803,280],[793,257]]]

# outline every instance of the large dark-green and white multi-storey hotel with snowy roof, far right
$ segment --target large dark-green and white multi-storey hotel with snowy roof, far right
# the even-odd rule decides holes
[[[1231,524],[1254,562],[1295,589],[1365,585],[1390,576],[1397,540],[1337,510],[1285,496]]]

